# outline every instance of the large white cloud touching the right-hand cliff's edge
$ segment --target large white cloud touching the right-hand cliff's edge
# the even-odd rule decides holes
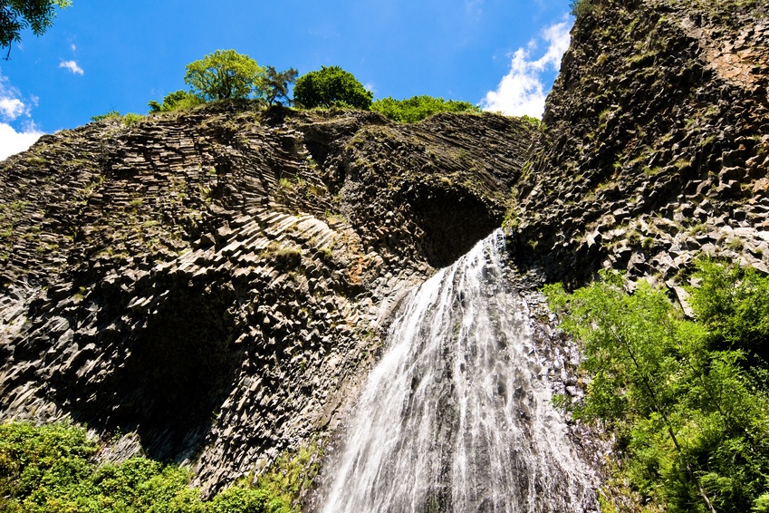
[[[542,73],[557,71],[561,66],[563,53],[569,48],[572,28],[571,21],[553,24],[545,28],[541,38],[548,43],[547,52],[536,60],[531,59],[531,53],[536,49],[536,41],[529,42],[527,48],[519,48],[513,54],[510,72],[499,82],[495,91],[486,93],[481,101],[485,111],[502,111],[508,116],[542,117],[544,91]]]

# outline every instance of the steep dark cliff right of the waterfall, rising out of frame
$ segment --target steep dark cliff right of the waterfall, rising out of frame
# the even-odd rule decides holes
[[[582,2],[517,184],[522,261],[572,284],[675,286],[702,252],[767,272],[767,4]]]

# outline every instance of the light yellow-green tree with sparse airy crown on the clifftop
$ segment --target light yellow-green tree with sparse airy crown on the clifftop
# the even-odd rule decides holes
[[[216,50],[186,69],[184,82],[206,100],[264,95],[264,68],[235,50]]]

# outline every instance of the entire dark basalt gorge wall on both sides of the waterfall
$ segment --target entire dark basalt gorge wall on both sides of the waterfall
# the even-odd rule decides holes
[[[769,3],[581,4],[540,131],[222,102],[0,163],[0,418],[213,490],[331,435],[399,299],[504,219],[537,279],[769,273]]]

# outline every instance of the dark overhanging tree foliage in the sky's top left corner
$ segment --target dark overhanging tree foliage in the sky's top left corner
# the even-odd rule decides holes
[[[7,61],[11,56],[11,44],[19,43],[21,31],[32,29],[41,35],[53,24],[56,7],[69,7],[71,0],[0,0],[0,47],[8,47]]]

